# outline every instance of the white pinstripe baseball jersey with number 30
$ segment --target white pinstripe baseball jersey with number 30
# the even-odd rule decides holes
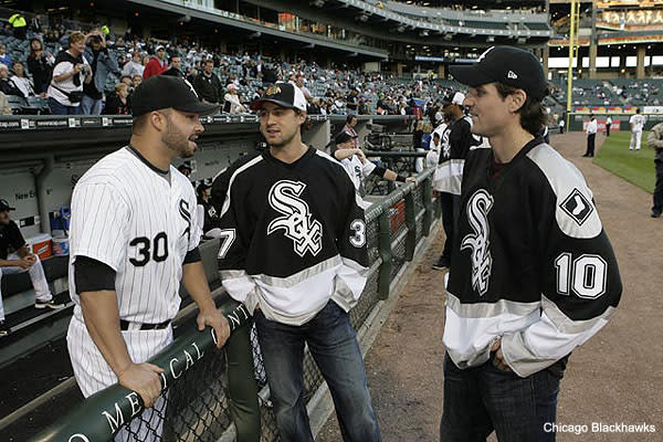
[[[70,230],[70,295],[82,318],[74,262],[84,255],[116,272],[119,317],[157,324],[180,307],[182,262],[198,246],[196,196],[175,167],[156,169],[131,147],[94,165],[76,183]]]

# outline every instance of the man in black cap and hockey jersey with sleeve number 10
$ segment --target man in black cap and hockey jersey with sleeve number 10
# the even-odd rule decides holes
[[[497,46],[452,66],[470,86],[470,151],[446,283],[441,440],[552,441],[569,354],[615,312],[622,285],[592,193],[578,169],[537,138],[544,71]]]

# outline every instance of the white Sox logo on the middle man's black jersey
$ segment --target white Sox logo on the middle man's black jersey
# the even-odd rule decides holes
[[[306,185],[299,181],[281,180],[270,189],[270,206],[284,217],[274,219],[267,227],[267,234],[283,229],[285,236],[293,240],[295,253],[314,256],[323,249],[323,225],[312,220],[308,204],[298,198]]]

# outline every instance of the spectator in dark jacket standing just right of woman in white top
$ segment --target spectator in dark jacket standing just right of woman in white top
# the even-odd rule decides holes
[[[92,69],[93,81],[83,85],[83,99],[81,101],[81,114],[99,115],[102,113],[102,99],[104,86],[108,74],[119,73],[119,66],[115,57],[108,54],[106,38],[101,30],[94,30],[87,34],[87,46],[85,46],[85,59]]]

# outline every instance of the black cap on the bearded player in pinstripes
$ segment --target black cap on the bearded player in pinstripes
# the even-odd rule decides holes
[[[135,117],[169,107],[199,115],[219,110],[217,104],[202,103],[191,83],[170,75],[150,76],[136,87],[131,96],[131,115]]]

